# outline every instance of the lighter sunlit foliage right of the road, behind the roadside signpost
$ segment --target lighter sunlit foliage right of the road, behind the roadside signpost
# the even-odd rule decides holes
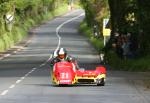
[[[88,26],[98,25],[102,34],[103,18],[109,18],[108,0],[81,0]]]

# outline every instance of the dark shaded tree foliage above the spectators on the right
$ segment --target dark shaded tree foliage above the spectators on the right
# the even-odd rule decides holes
[[[138,38],[141,53],[150,52],[150,3],[148,0],[109,0],[112,35],[130,32]]]

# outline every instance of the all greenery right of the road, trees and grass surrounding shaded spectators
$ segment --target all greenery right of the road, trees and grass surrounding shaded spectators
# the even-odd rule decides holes
[[[150,60],[146,57],[149,57],[150,52],[149,0],[81,0],[81,3],[85,9],[88,26],[92,27],[96,21],[99,24],[100,31],[102,31],[103,18],[109,17],[110,12],[112,35],[106,48],[108,49],[109,61],[113,67],[149,70]],[[132,41],[134,41],[137,47],[138,59],[123,60],[118,58],[112,49],[112,42],[116,32],[121,35],[131,34]]]

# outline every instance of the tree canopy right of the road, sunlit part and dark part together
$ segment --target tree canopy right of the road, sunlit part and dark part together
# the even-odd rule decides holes
[[[123,35],[131,33],[138,41],[140,53],[150,52],[149,0],[81,0],[81,3],[89,26],[94,20],[102,25],[102,19],[110,17],[112,37],[116,31]]]

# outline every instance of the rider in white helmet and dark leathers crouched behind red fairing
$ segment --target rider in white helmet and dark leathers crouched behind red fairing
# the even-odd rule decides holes
[[[71,57],[70,55],[67,55],[67,50],[65,48],[59,48],[56,50],[53,54],[53,58],[51,59],[50,64],[54,65],[57,62],[61,61],[68,61],[68,62],[74,62],[76,64],[76,67],[79,68],[76,60],[74,57]]]

